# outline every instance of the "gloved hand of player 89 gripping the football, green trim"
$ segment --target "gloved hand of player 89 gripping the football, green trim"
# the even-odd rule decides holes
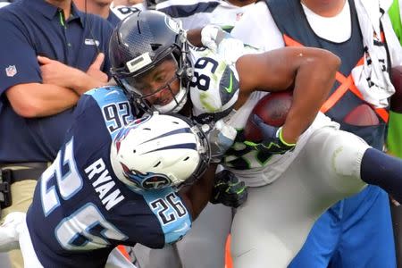
[[[288,151],[293,150],[296,144],[287,143],[282,138],[282,128],[272,127],[266,123],[256,114],[252,117],[252,122],[261,130],[263,134],[263,141],[261,143],[255,143],[246,140],[244,143],[248,147],[255,147],[259,151],[263,151],[269,154],[282,155]]]

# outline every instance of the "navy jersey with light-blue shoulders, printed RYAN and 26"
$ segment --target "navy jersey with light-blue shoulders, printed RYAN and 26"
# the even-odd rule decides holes
[[[189,230],[188,210],[172,188],[135,193],[113,173],[113,138],[132,120],[121,88],[97,88],[81,97],[27,215],[45,267],[101,267],[119,244],[163,247]]]

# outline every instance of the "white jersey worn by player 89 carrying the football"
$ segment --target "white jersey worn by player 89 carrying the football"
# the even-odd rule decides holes
[[[193,113],[198,121],[216,121],[224,117],[226,122],[238,130],[238,137],[242,136],[241,132],[255,104],[268,94],[257,91],[249,96],[238,111],[233,111],[232,107],[239,96],[239,74],[235,62],[240,55],[250,53],[258,51],[250,46],[244,46],[241,41],[234,38],[223,39],[217,54],[209,49],[191,51],[194,77],[189,83],[189,90]],[[284,155],[264,155],[246,147],[244,140],[237,138],[222,159],[222,165],[245,180],[248,186],[256,187],[271,183],[289,167],[314,130],[327,126],[339,128],[337,122],[319,113],[313,124],[300,136],[296,148]]]

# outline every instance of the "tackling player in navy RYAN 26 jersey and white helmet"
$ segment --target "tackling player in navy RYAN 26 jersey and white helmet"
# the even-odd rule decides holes
[[[209,200],[209,161],[205,135],[187,118],[135,119],[121,88],[93,89],[38,181],[26,225],[8,215],[0,245],[18,230],[26,267],[102,267],[117,245],[174,243]]]

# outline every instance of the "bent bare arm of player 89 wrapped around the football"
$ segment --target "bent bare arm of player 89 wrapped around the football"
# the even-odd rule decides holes
[[[293,89],[293,103],[282,129],[282,138],[296,143],[314,121],[328,97],[340,59],[312,47],[284,47],[263,54],[246,54],[236,62],[239,101],[242,105],[255,90]]]

